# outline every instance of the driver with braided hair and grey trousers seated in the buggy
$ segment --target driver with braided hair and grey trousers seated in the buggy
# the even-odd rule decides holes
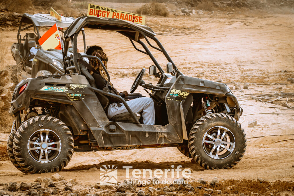
[[[93,47],[93,48],[91,48],[91,47]],[[103,52],[102,48],[99,46],[91,46],[91,47],[90,47],[91,49],[88,48],[87,55],[97,56],[98,58],[101,59],[103,64],[106,65],[107,57],[106,57],[106,54]],[[90,58],[89,64],[98,71],[99,74],[94,72],[94,73],[92,73],[92,76],[95,79],[95,83],[96,83],[97,88],[100,90],[103,90],[103,88],[106,87],[106,83],[107,83],[106,79],[104,78],[106,73],[104,73],[102,66],[100,66],[100,62],[97,61],[96,59]],[[120,93],[117,92],[116,88],[114,88],[111,83],[109,84],[108,88],[111,93],[120,95]],[[128,93],[126,92],[126,94],[128,94]],[[136,94],[136,93],[133,93],[133,94]],[[154,110],[153,100],[150,97],[142,97],[142,96],[140,97],[140,96],[141,96],[141,94],[134,96],[135,99],[128,100],[128,101],[126,101],[126,103],[128,104],[128,106],[131,108],[131,110],[134,113],[142,112],[144,124],[154,125],[155,124],[155,110]],[[137,97],[139,97],[139,98],[137,98]],[[128,110],[126,109],[126,107],[123,104],[117,103],[116,99],[109,98],[109,101],[111,103],[107,109],[107,116],[109,119],[113,118],[113,116],[115,116],[115,115],[128,112]]]

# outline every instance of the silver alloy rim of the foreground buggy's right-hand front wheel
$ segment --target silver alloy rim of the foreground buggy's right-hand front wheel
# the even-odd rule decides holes
[[[235,149],[235,144],[233,133],[223,126],[208,129],[202,138],[205,153],[217,160],[230,156]]]

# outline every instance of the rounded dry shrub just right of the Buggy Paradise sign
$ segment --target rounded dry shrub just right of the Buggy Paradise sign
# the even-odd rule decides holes
[[[151,15],[151,16],[168,16],[168,11],[164,4],[152,1],[149,4],[144,4],[141,8],[136,10],[136,14]]]

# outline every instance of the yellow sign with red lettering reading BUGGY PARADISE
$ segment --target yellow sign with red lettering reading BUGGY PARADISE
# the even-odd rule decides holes
[[[125,11],[119,11],[108,7],[98,6],[94,4],[88,5],[88,15],[97,16],[101,18],[113,18],[130,21],[137,24],[145,24],[145,16],[133,14]]]

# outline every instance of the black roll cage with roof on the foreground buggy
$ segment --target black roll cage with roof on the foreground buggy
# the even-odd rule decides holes
[[[81,56],[78,52],[76,52],[77,51],[78,34],[80,33],[80,31],[83,28],[116,31],[116,32],[121,33],[122,35],[128,37],[129,40],[131,41],[132,45],[134,46],[134,48],[137,51],[144,53],[151,58],[151,60],[155,64],[155,66],[158,68],[158,70],[159,70],[158,76],[160,76],[161,74],[164,73],[164,71],[161,68],[161,66],[159,65],[159,63],[156,61],[155,57],[153,56],[151,51],[148,49],[146,44],[140,40],[140,39],[145,39],[149,46],[162,52],[163,55],[168,60],[168,62],[172,63],[172,65],[173,65],[173,73],[172,74],[173,75],[174,74],[182,75],[182,73],[178,70],[175,63],[173,63],[171,57],[168,55],[168,53],[166,52],[166,50],[164,49],[164,47],[162,46],[160,41],[155,37],[156,34],[154,33],[154,31],[150,27],[140,25],[140,24],[135,24],[135,23],[132,23],[129,21],[124,21],[121,19],[100,18],[100,17],[93,17],[93,16],[81,16],[81,17],[77,18],[64,32],[64,56],[66,56],[66,54],[67,54],[67,51],[69,48],[69,42],[71,41],[71,45],[72,45],[73,51],[74,51],[72,61],[74,64],[74,68],[76,69],[76,73],[78,73],[78,74],[81,74],[81,70],[78,65],[78,59],[80,59],[81,57],[95,58],[94,56],[83,56],[83,55]],[[150,41],[148,40],[148,38],[151,38],[153,41],[155,41],[157,46],[153,46],[150,43]],[[136,47],[134,41],[139,43],[144,48],[145,51],[138,49]],[[66,73],[69,73],[68,72],[69,69],[73,69],[73,66],[71,66],[72,68],[70,68],[69,63],[65,63],[65,66],[66,66],[65,67]],[[104,68],[104,66],[103,66],[103,68]],[[108,76],[108,82],[107,82],[107,86],[106,86],[106,89],[107,89],[110,78],[109,78],[109,74],[105,68],[104,68],[104,71],[107,73],[107,76]]]

